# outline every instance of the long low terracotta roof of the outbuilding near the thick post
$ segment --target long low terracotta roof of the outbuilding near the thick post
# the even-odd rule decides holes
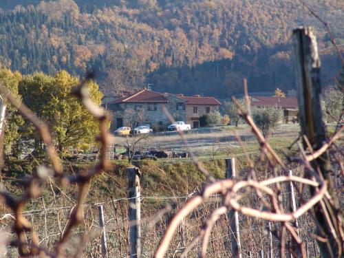
[[[297,98],[286,97],[262,97],[262,96],[252,96],[251,105],[256,107],[263,106],[274,106],[274,107],[283,107],[287,109],[297,109]]]

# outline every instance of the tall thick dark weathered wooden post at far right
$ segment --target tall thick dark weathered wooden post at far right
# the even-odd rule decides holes
[[[320,149],[325,142],[325,126],[321,112],[321,80],[320,80],[320,59],[318,54],[318,46],[316,44],[316,36],[314,29],[310,27],[297,28],[293,31],[294,55],[295,55],[295,73],[297,78],[297,100],[299,103],[299,121],[301,126],[301,134],[308,138],[312,150]],[[308,148],[308,142],[303,140],[304,149]],[[325,213],[333,214],[331,222],[325,219],[322,213],[322,206],[319,202],[314,206],[314,213],[317,220],[317,234],[325,239],[326,243],[318,241],[321,250],[321,257],[337,257],[338,250],[341,250],[340,240],[334,235],[341,235],[341,222],[343,222],[343,214],[341,208],[336,202],[336,191],[331,176],[331,162],[328,151],[311,162],[314,171],[319,171],[319,178],[324,178],[328,182],[328,192],[332,200],[325,200],[329,205],[325,207]],[[313,178],[308,171],[308,177]],[[311,195],[314,195],[315,189],[310,188]],[[324,197],[328,199],[328,197]],[[331,223],[331,225],[329,224]],[[321,233],[323,232],[323,233]],[[335,234],[333,234],[334,232]]]

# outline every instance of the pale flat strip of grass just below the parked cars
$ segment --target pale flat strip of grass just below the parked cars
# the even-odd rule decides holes
[[[197,156],[208,156],[219,153],[235,153],[235,148],[239,147],[237,143],[236,135],[241,137],[241,140],[246,144],[248,151],[253,149],[257,150],[255,136],[250,132],[247,125],[239,125],[239,127],[226,126],[217,127],[218,131],[210,133],[185,133],[184,136],[188,141],[189,147],[193,153]],[[299,131],[299,125],[288,124],[281,125],[274,135],[270,137],[272,144],[276,147],[286,147],[283,142],[290,142],[288,139],[297,138]],[[122,138],[116,137],[116,151],[117,149],[124,149],[127,144],[132,144],[138,138],[129,137]],[[252,146],[251,146],[252,145]],[[166,150],[166,151],[177,151],[185,152],[188,151],[185,147],[184,141],[178,134],[173,135],[151,135],[148,138],[144,138],[136,144],[138,150]],[[229,151],[229,152],[228,152]]]

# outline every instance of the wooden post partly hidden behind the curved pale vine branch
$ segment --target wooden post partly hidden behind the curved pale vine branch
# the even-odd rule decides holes
[[[226,158],[226,178],[235,178],[235,176],[235,158]],[[241,258],[239,215],[237,211],[230,209],[228,221],[230,222],[230,241],[232,243],[233,257]]]

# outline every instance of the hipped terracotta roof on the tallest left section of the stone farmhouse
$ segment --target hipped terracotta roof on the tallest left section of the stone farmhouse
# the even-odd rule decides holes
[[[118,103],[168,103],[163,94],[152,92],[149,89],[142,89],[139,92],[117,98],[111,104]]]

